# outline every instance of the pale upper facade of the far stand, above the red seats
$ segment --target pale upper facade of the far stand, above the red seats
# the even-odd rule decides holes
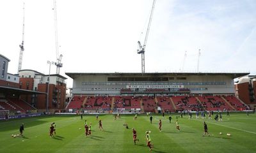
[[[157,75],[157,77],[174,78],[165,82],[108,82],[108,77],[113,75],[80,75],[73,80],[73,94],[120,94],[120,89],[128,89],[129,85],[142,87],[163,87],[166,90],[177,90],[175,86],[180,85],[190,89],[191,94],[234,94],[234,80],[228,75]],[[141,75],[122,77],[144,77]],[[147,76],[151,77],[151,76]],[[155,75],[152,75],[155,77]],[[179,78],[179,79],[178,79]],[[180,80],[180,78],[183,78]],[[185,79],[184,79],[185,78]],[[144,86],[143,86],[144,85]]]

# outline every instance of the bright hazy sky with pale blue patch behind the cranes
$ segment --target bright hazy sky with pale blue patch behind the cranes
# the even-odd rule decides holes
[[[151,0],[56,0],[65,72],[140,72]],[[53,1],[24,0],[22,69],[47,74],[56,61]],[[0,1],[0,54],[17,73],[22,3]],[[250,71],[256,74],[256,1],[157,0],[145,52],[145,71]],[[187,57],[184,61],[184,53]],[[52,69],[51,73],[56,73]],[[68,79],[68,87],[72,80]]]

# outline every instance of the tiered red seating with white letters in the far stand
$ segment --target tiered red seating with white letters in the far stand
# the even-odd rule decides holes
[[[142,103],[140,103],[141,100]],[[114,112],[118,109],[140,110],[141,105],[144,112],[156,112],[157,107],[160,107],[164,112],[246,110],[246,105],[235,96],[157,96],[156,98],[154,96],[74,96],[67,108],[111,110],[112,101]],[[172,101],[176,108],[172,105]]]

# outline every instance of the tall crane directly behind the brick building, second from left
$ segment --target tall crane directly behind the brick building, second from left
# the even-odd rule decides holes
[[[55,29],[55,48],[56,48],[56,74],[60,74],[60,68],[63,66],[61,63],[62,54],[59,54],[59,43],[58,43],[58,24],[57,24],[57,8],[56,8],[56,0],[53,0],[53,8],[54,10],[54,29]]]

